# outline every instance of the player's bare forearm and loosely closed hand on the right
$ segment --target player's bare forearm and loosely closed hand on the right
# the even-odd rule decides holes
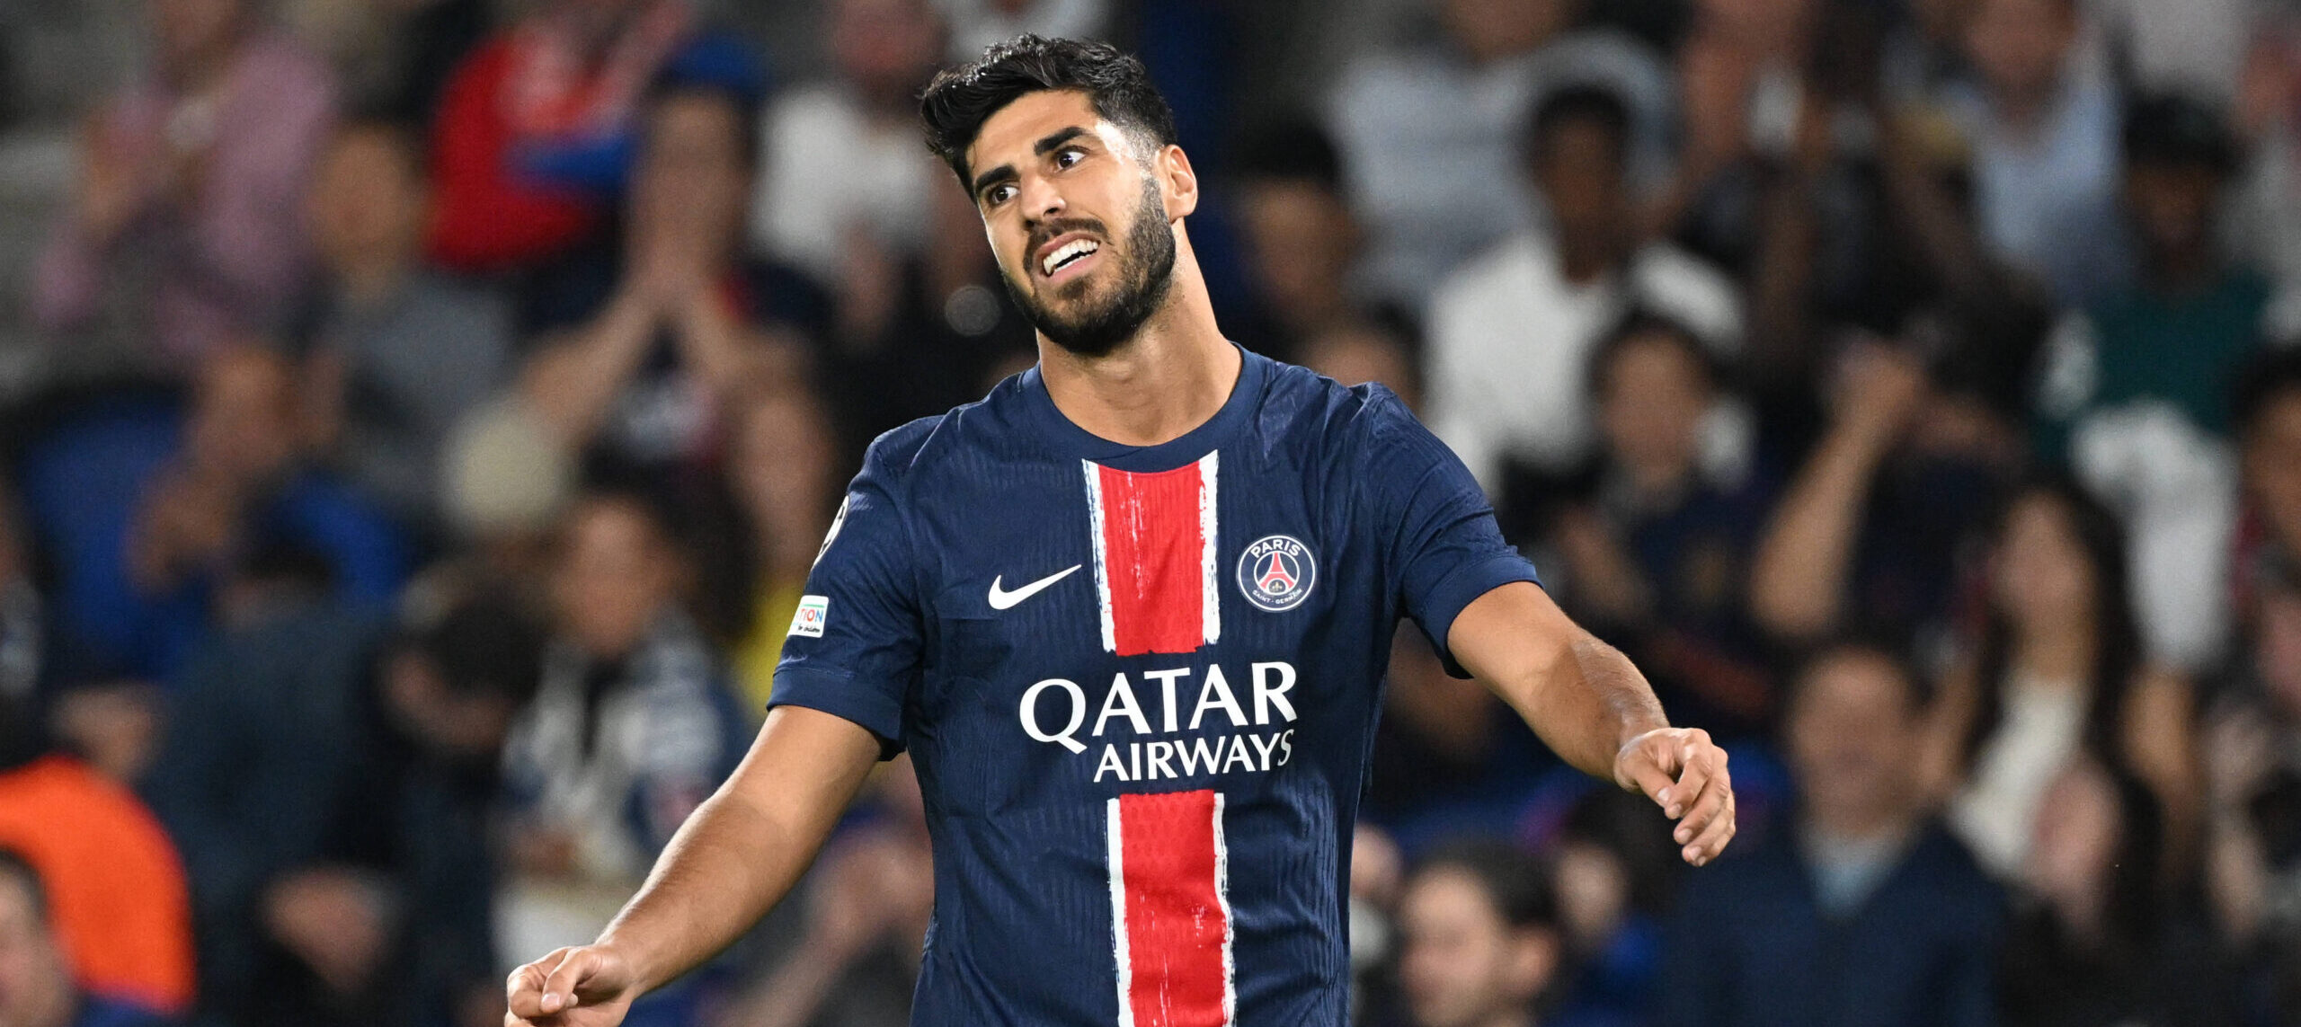
[[[1535,583],[1496,587],[1461,610],[1447,649],[1574,767],[1645,792],[1677,820],[1680,854],[1703,866],[1733,840],[1726,751],[1671,728],[1645,675],[1574,624]]]

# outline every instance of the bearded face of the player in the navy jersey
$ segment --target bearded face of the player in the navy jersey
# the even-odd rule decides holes
[[[1146,150],[1070,90],[1015,99],[966,150],[1008,292],[1070,352],[1116,350],[1167,299],[1171,219],[1190,212],[1171,193],[1190,166],[1180,147]]]

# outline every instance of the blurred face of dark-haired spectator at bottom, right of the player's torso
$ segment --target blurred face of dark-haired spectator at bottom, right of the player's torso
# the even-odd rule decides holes
[[[1553,942],[1512,930],[1466,873],[1417,877],[1399,903],[1399,983],[1420,1027],[1475,1027],[1526,1011],[1551,974]]]

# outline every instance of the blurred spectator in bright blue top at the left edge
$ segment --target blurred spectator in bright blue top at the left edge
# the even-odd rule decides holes
[[[209,357],[189,414],[92,403],[23,474],[58,580],[60,682],[170,684],[214,626],[255,613],[258,580],[387,603],[407,573],[382,511],[301,456],[292,371],[262,345]]]

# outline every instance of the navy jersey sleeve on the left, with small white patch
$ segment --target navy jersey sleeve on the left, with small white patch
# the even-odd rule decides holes
[[[782,640],[769,707],[854,721],[902,751],[904,700],[920,672],[920,601],[909,525],[879,447],[847,488]]]

